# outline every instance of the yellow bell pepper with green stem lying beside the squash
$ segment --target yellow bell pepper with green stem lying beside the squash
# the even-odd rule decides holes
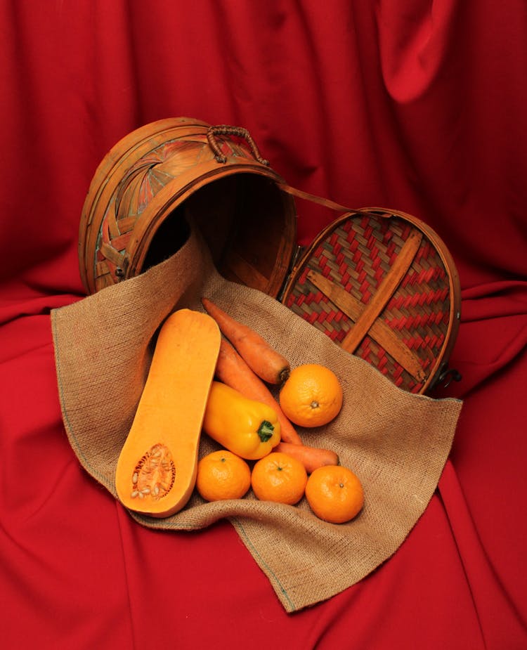
[[[212,382],[203,430],[221,446],[245,460],[259,460],[280,442],[280,422],[270,406]]]

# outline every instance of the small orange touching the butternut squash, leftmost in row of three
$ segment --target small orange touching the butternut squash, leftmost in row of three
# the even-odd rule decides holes
[[[251,469],[226,449],[213,451],[197,464],[196,488],[206,501],[241,499],[251,487]]]

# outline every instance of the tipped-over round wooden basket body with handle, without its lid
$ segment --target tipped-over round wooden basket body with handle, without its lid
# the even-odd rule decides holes
[[[280,183],[246,129],[178,117],[132,131],[104,157],[84,202],[79,270],[86,291],[174,254],[193,221],[226,278],[276,296],[297,218]]]

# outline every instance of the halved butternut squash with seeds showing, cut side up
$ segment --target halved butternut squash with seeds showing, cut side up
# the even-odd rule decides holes
[[[126,508],[167,517],[190,499],[220,341],[205,313],[183,308],[164,321],[117,461],[115,488]]]

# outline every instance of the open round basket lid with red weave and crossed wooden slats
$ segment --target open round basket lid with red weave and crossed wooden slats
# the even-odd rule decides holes
[[[460,285],[445,244],[415,217],[347,212],[305,250],[282,303],[412,393],[448,372]]]

